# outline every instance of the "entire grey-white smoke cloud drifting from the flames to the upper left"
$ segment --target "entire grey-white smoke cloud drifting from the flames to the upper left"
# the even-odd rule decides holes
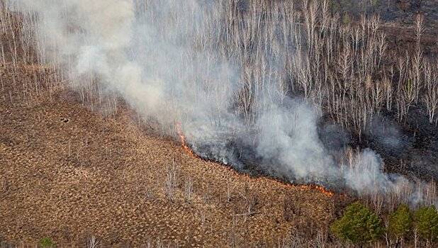
[[[245,33],[264,24],[228,16],[243,7],[201,0],[9,1],[35,19],[41,60],[69,74],[75,89],[96,77],[103,94],[117,94],[163,132],[181,125],[201,157],[358,193],[408,184],[384,174],[371,150],[335,159],[318,135],[318,103],[292,96],[282,76],[285,61],[299,66],[306,58],[267,33]],[[300,39],[299,30],[275,29],[291,44]],[[240,39],[254,40],[252,47]]]

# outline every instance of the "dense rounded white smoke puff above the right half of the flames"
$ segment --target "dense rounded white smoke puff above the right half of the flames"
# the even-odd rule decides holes
[[[333,162],[318,137],[317,112],[304,103],[290,104],[290,108],[273,106],[257,120],[262,141],[257,153],[266,154],[298,179],[330,176]]]

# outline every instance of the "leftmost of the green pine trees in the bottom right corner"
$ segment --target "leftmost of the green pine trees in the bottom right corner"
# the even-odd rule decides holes
[[[342,218],[332,224],[331,230],[339,239],[353,244],[365,244],[381,237],[381,223],[376,213],[356,202],[346,208]]]

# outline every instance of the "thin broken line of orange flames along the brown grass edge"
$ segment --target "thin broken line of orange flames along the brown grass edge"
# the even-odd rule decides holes
[[[199,159],[203,159],[202,157],[199,157],[197,154],[195,154],[195,152],[193,152],[193,150],[191,150],[191,148],[189,147],[189,145],[187,145],[186,142],[186,136],[183,133],[182,127],[181,127],[181,123],[176,123],[176,133],[179,136],[179,140],[181,141],[181,147],[184,149],[185,152],[187,152],[188,154],[190,154],[193,157],[197,157]],[[207,159],[203,159],[203,160],[207,160]],[[238,174],[237,171],[235,171],[234,169],[232,169],[231,167],[226,167],[227,169],[229,169],[230,171],[232,171],[235,174]],[[259,181],[262,180],[260,178],[254,178],[252,176],[246,175],[248,177],[250,177],[253,180]],[[325,194],[325,196],[328,197],[332,197],[335,195],[335,193],[333,193],[332,191],[329,191],[327,188],[324,188],[322,186],[316,185],[316,184],[289,184],[286,183],[284,181],[280,181],[279,179],[273,179],[273,178],[269,178],[272,181],[276,181],[276,183],[282,184],[283,186],[286,186],[288,188],[299,188],[300,190],[316,190],[316,191],[320,191],[321,193]]]

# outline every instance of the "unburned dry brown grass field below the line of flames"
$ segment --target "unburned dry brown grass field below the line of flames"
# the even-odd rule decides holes
[[[42,83],[50,69],[0,69],[0,239],[275,247],[334,218],[338,196],[193,157],[148,135],[128,108],[104,117],[63,84]]]

